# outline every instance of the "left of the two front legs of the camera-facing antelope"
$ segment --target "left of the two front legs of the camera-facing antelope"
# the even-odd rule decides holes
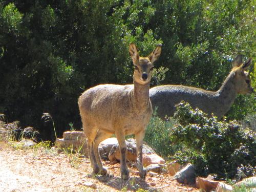
[[[118,133],[119,132],[119,133]],[[118,130],[115,133],[116,138],[119,144],[119,150],[121,154],[120,166],[121,166],[121,178],[127,180],[129,178],[129,170],[126,165],[126,143],[125,143],[125,135],[121,130]]]

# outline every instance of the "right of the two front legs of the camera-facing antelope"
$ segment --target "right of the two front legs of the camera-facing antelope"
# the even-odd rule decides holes
[[[141,179],[146,178],[146,169],[143,167],[143,162],[142,162],[142,159],[143,159],[142,158],[142,147],[143,147],[144,136],[145,136],[145,130],[143,130],[135,135],[136,152],[137,152],[136,166],[139,169]]]

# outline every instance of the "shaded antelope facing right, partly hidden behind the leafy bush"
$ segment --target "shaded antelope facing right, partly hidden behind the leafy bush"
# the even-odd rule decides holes
[[[220,119],[230,109],[237,94],[253,93],[249,73],[245,71],[251,61],[249,58],[242,63],[242,55],[238,55],[232,63],[231,72],[216,92],[176,85],[154,87],[150,89],[153,109],[157,107],[157,114],[164,119],[165,116],[173,116],[175,105],[184,100],[194,109],[199,108],[208,116],[213,113]]]

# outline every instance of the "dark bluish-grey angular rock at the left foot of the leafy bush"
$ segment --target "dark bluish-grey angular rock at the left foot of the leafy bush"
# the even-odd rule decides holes
[[[179,183],[194,184],[196,182],[195,168],[191,164],[187,164],[179,172],[177,172],[174,178]]]

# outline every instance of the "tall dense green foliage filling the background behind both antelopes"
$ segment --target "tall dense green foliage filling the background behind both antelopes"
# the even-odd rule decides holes
[[[231,58],[255,56],[254,3],[0,0],[0,113],[51,139],[51,124],[40,119],[44,112],[58,135],[70,122],[81,127],[77,98],[84,90],[132,82],[131,42],[141,55],[163,44],[155,65],[164,67],[165,79],[155,71],[154,84],[217,90]],[[239,96],[228,118],[241,119],[255,105],[253,95]]]

